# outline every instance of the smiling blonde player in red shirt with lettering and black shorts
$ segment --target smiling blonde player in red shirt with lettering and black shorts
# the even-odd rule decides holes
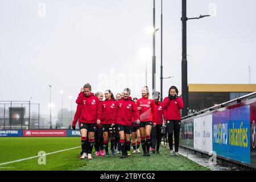
[[[141,123],[139,124],[139,131],[141,132],[141,146],[143,149],[143,156],[150,156],[151,145],[151,128],[156,125],[155,119],[155,102],[149,99],[149,91],[147,86],[142,88],[142,98],[137,102]],[[145,140],[146,138],[146,140]]]

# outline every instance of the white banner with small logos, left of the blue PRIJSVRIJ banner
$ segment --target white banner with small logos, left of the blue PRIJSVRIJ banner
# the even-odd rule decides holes
[[[194,119],[194,148],[212,151],[212,114]]]

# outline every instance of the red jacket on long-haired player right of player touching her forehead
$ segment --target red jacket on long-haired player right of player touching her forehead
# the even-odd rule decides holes
[[[113,124],[117,121],[117,101],[112,98],[101,102],[101,124]]]

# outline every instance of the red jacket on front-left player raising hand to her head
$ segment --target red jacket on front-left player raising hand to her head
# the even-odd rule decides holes
[[[80,92],[76,104],[81,104],[80,122],[97,123],[97,119],[101,119],[100,100],[93,93],[85,96],[84,92]]]

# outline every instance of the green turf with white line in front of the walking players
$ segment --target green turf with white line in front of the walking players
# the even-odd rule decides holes
[[[94,156],[93,160],[80,159],[80,138],[79,137],[3,137],[0,138],[0,170],[92,170],[92,171],[183,171],[210,170],[199,164],[192,162],[184,156],[170,156],[168,149],[160,146],[160,154],[142,156],[142,154],[132,154],[129,158],[120,159],[121,154],[110,157]],[[23,160],[20,162],[4,164],[19,159],[30,158],[38,155],[39,151],[50,152],[79,147],[72,150],[62,151],[46,155],[46,164],[38,164],[38,158]],[[140,148],[142,151],[142,148]]]

